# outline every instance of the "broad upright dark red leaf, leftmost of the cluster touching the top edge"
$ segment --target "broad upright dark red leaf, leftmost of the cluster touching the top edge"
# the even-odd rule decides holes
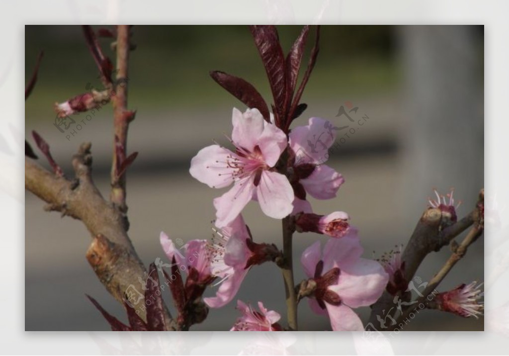
[[[286,64],[277,30],[273,25],[252,25],[250,29],[269,78],[277,114],[284,118],[287,95]]]

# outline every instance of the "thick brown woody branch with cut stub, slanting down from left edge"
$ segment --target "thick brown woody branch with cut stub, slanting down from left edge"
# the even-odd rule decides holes
[[[87,259],[101,283],[123,304],[130,286],[143,293],[146,269],[127,235],[122,214],[94,185],[90,146],[82,144],[74,155],[73,180],[55,176],[25,157],[25,189],[48,203],[46,210],[60,211],[83,222],[94,238]],[[146,315],[144,306],[143,298],[134,305],[142,318]],[[173,328],[169,313],[166,321],[168,329]]]

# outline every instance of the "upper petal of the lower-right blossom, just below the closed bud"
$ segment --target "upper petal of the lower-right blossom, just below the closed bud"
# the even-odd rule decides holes
[[[330,238],[323,249],[324,273],[334,267],[350,267],[357,262],[363,249],[356,235],[350,234],[342,238]]]

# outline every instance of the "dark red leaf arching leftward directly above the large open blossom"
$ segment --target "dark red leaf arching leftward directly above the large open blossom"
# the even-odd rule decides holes
[[[221,71],[210,72],[212,79],[247,107],[257,108],[265,120],[270,122],[270,113],[262,95],[246,80]]]

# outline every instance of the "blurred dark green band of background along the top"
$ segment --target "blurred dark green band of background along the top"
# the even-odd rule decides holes
[[[301,26],[281,26],[285,53]],[[398,68],[393,61],[390,26],[323,26],[318,65],[304,99],[371,94],[393,89]],[[270,88],[247,26],[134,26],[137,50],[130,59],[129,103],[136,108],[218,105],[229,94],[208,77],[222,70],[250,81],[264,97]],[[48,103],[85,91],[87,83],[101,87],[96,65],[79,26],[26,26],[25,73],[31,73],[38,51],[44,49],[38,95],[26,103],[26,118],[53,116]],[[308,50],[313,44],[310,33]],[[102,39],[106,55],[114,58],[110,39]],[[185,63],[183,66],[182,64]],[[303,60],[305,70],[307,57]]]

